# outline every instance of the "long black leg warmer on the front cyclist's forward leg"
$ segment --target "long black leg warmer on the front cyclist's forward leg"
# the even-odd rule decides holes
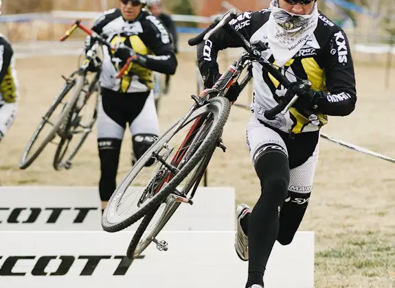
[[[273,146],[273,145],[271,145]],[[278,236],[279,212],[289,185],[289,161],[285,152],[268,145],[254,157],[262,193],[249,215],[249,277],[247,287],[263,285],[262,276]]]

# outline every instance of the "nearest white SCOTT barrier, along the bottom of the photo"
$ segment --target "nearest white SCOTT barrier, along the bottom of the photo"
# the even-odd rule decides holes
[[[131,232],[0,232],[2,287],[240,288],[248,263],[234,251],[234,232],[162,232],[169,250],[148,246],[133,263],[123,257]],[[23,239],[23,240],[22,240]],[[314,233],[277,242],[265,287],[311,288]]]

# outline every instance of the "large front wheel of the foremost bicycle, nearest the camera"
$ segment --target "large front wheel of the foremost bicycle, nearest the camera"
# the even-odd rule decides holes
[[[115,189],[104,209],[103,229],[116,232],[130,226],[174,192],[218,141],[229,110],[225,97],[214,97],[163,134]],[[153,165],[144,168],[149,161]]]

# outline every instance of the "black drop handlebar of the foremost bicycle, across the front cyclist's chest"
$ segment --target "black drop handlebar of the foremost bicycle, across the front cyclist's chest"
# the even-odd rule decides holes
[[[212,34],[214,34],[223,27],[229,34],[231,34],[238,41],[240,41],[240,46],[244,48],[247,53],[249,53],[249,56],[253,60],[258,60],[260,64],[262,64],[262,67],[266,69],[268,73],[273,75],[273,77],[275,77],[275,79],[278,80],[278,82],[280,82],[282,86],[284,86],[285,88],[289,88],[289,86],[291,86],[291,82],[285,77],[285,75],[283,75],[279,71],[279,69],[275,67],[275,65],[273,65],[271,62],[269,62],[269,60],[262,56],[261,51],[267,49],[266,45],[264,45],[264,43],[262,43],[261,41],[251,44],[244,36],[242,36],[242,34],[240,34],[240,32],[238,32],[236,29],[234,29],[234,27],[229,25],[229,20],[235,19],[236,16],[236,10],[229,10],[223,16],[221,21],[218,21],[218,23],[212,23],[212,25],[205,29],[205,31],[203,31],[201,34],[188,40],[188,44],[190,46],[198,45],[199,43],[203,42],[203,40],[209,39]],[[266,110],[264,112],[264,117],[269,120],[273,120],[275,116],[279,113],[282,113],[282,115],[284,115],[289,110],[289,108],[291,108],[291,106],[295,104],[297,98],[298,96],[294,95],[291,101],[286,101],[285,99],[280,101],[280,104],[278,104],[278,106],[275,106],[270,110]]]

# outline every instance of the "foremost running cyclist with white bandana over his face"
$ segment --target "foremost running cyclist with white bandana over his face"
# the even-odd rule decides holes
[[[317,9],[316,0],[273,0],[267,10],[244,12],[229,22],[251,43],[261,40],[270,62],[292,82],[287,90],[253,63],[253,115],[247,145],[261,184],[253,207],[236,206],[235,248],[249,261],[245,287],[264,287],[263,276],[275,241],[288,245],[300,226],[311,196],[319,154],[319,130],[328,115],[346,116],[355,107],[354,67],[346,34]],[[218,51],[240,47],[221,29],[198,46],[198,61],[207,88],[218,80]],[[311,88],[302,85],[309,80]],[[227,93],[238,96],[237,86]],[[229,90],[230,91],[230,90]],[[264,111],[282,97],[299,98],[285,115],[269,120]],[[283,98],[284,99],[284,98]]]

